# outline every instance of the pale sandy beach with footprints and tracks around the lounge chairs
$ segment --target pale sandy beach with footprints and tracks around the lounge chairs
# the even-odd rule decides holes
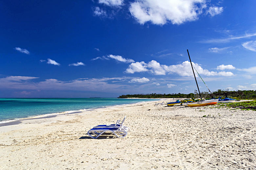
[[[256,169],[256,111],[155,105],[161,102],[2,126],[0,169]],[[87,135],[125,115],[125,138]]]

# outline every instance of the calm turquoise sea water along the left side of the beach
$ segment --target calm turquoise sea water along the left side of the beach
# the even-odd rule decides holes
[[[0,122],[69,110],[153,101],[156,99],[119,98],[0,98]]]

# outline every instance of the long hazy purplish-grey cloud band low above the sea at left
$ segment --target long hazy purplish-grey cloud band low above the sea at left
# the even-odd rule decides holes
[[[76,90],[76,91],[105,91],[113,93],[123,93],[130,89],[127,84],[111,83],[112,80],[127,80],[134,77],[113,77],[113,78],[81,78],[70,81],[61,81],[57,79],[46,79],[40,82],[31,81],[31,79],[38,77],[28,76],[9,76],[0,78],[0,89],[19,89],[19,90],[50,90],[50,91],[63,91],[63,90]],[[129,87],[129,88],[128,88]]]

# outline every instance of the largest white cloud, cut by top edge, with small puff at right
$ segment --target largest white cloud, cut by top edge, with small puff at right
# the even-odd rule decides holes
[[[206,8],[205,0],[135,0],[129,10],[140,24],[149,21],[156,25],[164,25],[167,22],[182,24],[197,20]],[[208,11],[214,16],[221,13],[223,8],[210,7]]]

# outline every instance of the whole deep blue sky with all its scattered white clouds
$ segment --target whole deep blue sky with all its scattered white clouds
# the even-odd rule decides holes
[[[0,1],[0,97],[256,90],[256,1]],[[196,72],[195,72],[196,73]],[[197,73],[196,73],[197,74]],[[197,75],[200,91],[208,91]]]

